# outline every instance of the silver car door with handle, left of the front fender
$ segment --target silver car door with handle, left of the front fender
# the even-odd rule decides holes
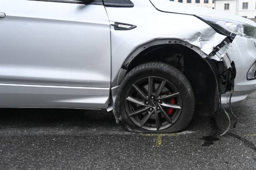
[[[0,1],[1,107],[107,107],[109,19],[78,3]]]

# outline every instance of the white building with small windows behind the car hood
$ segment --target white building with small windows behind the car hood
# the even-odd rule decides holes
[[[215,0],[215,9],[245,18],[256,18],[256,0]]]

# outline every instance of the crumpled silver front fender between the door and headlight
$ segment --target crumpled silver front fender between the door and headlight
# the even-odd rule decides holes
[[[165,40],[181,40],[187,46],[193,45],[202,52],[201,56],[209,55],[213,47],[221,43],[226,36],[216,31],[202,20],[192,15],[160,12],[149,0],[133,0],[133,8],[106,7],[110,24],[121,22],[137,27],[128,30],[114,30],[111,26],[111,86],[116,86],[119,71],[127,58],[133,58],[134,51],[141,51],[151,45],[166,43]],[[164,40],[164,41],[159,41]],[[145,45],[145,46],[144,46]],[[203,55],[204,54],[204,55]]]

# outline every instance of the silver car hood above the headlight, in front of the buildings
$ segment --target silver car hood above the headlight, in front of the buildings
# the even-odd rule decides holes
[[[226,12],[221,12],[215,9],[204,8],[202,6],[177,3],[169,0],[150,0],[156,9],[162,12],[179,13],[187,15],[197,15],[205,17],[214,17],[220,19],[234,20],[245,24],[256,26],[256,23],[250,19],[232,15]]]

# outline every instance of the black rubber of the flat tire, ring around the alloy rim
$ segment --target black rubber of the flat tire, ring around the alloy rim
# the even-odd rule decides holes
[[[158,63],[161,64],[161,63]],[[165,64],[166,65],[166,64]],[[171,82],[180,92],[182,100],[182,110],[179,118],[175,121],[173,125],[163,130],[146,130],[138,127],[133,123],[129,118],[126,109],[125,109],[125,96],[129,88],[133,83],[145,77],[161,77],[169,82]],[[135,69],[132,73],[128,73],[123,82],[120,85],[118,97],[116,100],[119,100],[117,103],[117,110],[120,113],[120,120],[126,123],[125,128],[132,132],[143,132],[143,133],[173,133],[183,130],[189,124],[193,113],[194,113],[194,95],[192,88],[189,84],[187,86],[187,79],[179,70],[168,65],[167,68],[161,68],[157,66],[149,66],[140,69]]]

